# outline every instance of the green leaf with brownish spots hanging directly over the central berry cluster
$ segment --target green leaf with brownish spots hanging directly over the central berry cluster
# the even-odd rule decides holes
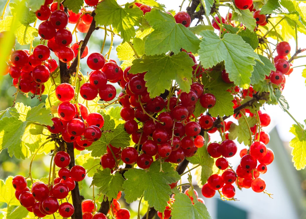
[[[165,89],[169,89],[171,80],[175,80],[181,90],[189,92],[192,84],[193,65],[194,62],[187,53],[179,53],[173,56],[165,54],[144,55],[142,58],[133,61],[130,72],[137,74],[147,71],[144,75],[147,90],[150,92],[150,97],[156,97],[164,93]]]

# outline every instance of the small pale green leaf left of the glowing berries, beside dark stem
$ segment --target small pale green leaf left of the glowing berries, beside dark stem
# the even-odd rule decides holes
[[[36,107],[33,107],[31,110],[28,111],[27,114],[27,121],[31,122],[38,122],[42,125],[52,126],[52,116],[50,115],[50,109],[43,108],[45,104],[41,103]]]

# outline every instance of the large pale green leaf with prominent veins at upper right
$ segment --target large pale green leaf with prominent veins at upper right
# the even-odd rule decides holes
[[[200,61],[203,68],[211,68],[224,61],[229,78],[236,85],[248,88],[255,60],[260,60],[252,47],[241,36],[227,33],[220,39],[213,31],[202,31],[200,43]]]

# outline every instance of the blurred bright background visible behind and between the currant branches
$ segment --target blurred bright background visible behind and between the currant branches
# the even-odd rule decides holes
[[[17,2],[12,0],[11,2]],[[118,0],[119,4],[124,4],[126,1]],[[132,2],[132,1],[129,1]],[[0,11],[2,12],[6,1],[0,1]],[[18,2],[17,2],[18,3]],[[181,1],[178,0],[159,0],[159,3],[166,5],[166,9],[174,9],[179,11],[179,6]],[[304,4],[304,3],[302,3]],[[188,1],[186,0],[183,5],[183,10],[187,7]],[[7,8],[9,13],[9,8]],[[220,13],[223,17],[226,16],[228,11],[224,7],[220,7]],[[194,25],[194,21],[191,25]],[[38,27],[39,22],[36,24]],[[74,24],[69,24],[68,28],[73,30]],[[85,34],[78,33],[78,39],[84,39]],[[75,36],[73,36],[75,37]],[[91,39],[88,43],[89,52],[100,52],[100,48],[103,43],[104,31],[98,30],[94,31]],[[306,36],[298,35],[299,47],[306,48]],[[270,39],[274,42],[273,39]],[[73,42],[75,42],[75,38]],[[117,57],[116,47],[121,43],[121,39],[118,36],[114,37],[114,48],[111,51],[110,58],[114,59],[120,63]],[[291,39],[289,41],[292,51],[291,55],[294,53],[295,41]],[[39,38],[33,42],[33,46],[39,44]],[[108,51],[110,46],[110,37],[107,37],[105,49],[103,55]],[[29,46],[16,45],[16,49],[29,49]],[[52,58],[57,58],[54,53],[51,54]],[[294,61],[293,66],[299,66],[305,64],[305,59],[297,59]],[[86,65],[86,58],[81,59],[81,71],[84,75],[87,74],[90,69]],[[283,96],[289,103],[290,113],[302,124],[304,119],[306,119],[306,101],[304,95],[306,93],[305,78],[302,77],[302,71],[305,67],[294,68],[293,73],[286,78],[285,89],[283,90]],[[0,82],[0,111],[8,108],[13,104],[12,95],[16,92],[16,89],[11,86],[12,78],[6,75],[2,78]],[[118,86],[118,91],[120,87]],[[46,95],[43,95],[43,101]],[[36,106],[39,104],[39,100],[36,98],[26,98],[25,96],[18,95],[17,102],[23,102],[28,106]],[[263,179],[266,181],[266,190],[269,193],[274,194],[273,198],[269,198],[267,194],[255,193],[251,189],[243,189],[243,191],[236,190],[235,198],[237,201],[222,201],[218,197],[218,193],[215,197],[211,199],[204,198],[205,204],[208,208],[209,213],[214,219],[304,219],[306,218],[305,208],[306,208],[306,170],[297,171],[293,167],[291,162],[291,148],[289,148],[289,141],[294,137],[293,134],[289,133],[289,129],[294,124],[294,121],[281,110],[277,105],[269,106],[264,105],[264,110],[271,117],[271,124],[264,128],[264,131],[270,133],[270,142],[267,145],[274,151],[275,159],[274,162],[268,166],[268,171],[263,175]],[[263,110],[263,111],[264,111]],[[233,119],[234,121],[234,119]],[[235,122],[235,121],[234,121]],[[211,141],[220,141],[220,136],[217,133],[211,135]],[[244,145],[238,145],[238,151],[244,148]],[[86,151],[82,151],[81,154],[85,154]],[[234,166],[239,164],[240,156],[237,153],[234,157],[229,159],[229,162]],[[29,168],[30,159],[19,160],[15,157],[10,158],[7,151],[3,150],[0,153],[0,179],[5,180],[8,176],[14,176],[17,174],[27,176]],[[32,167],[33,178],[40,179],[46,177],[49,172],[50,156],[48,155],[37,155]],[[192,167],[192,166],[190,166]],[[192,171],[195,173],[195,171]],[[186,176],[186,175],[185,175]],[[184,177],[185,177],[184,176]],[[187,182],[184,178],[183,182]],[[201,190],[196,186],[194,177],[195,189],[199,193],[199,197],[202,197]],[[91,178],[86,178],[83,181],[83,189],[81,194],[84,195],[85,199],[92,198],[92,189],[89,188],[91,184]],[[184,190],[184,189],[183,189]],[[98,194],[98,190],[95,191]],[[122,195],[124,197],[124,195]],[[131,218],[137,218],[137,211],[139,202],[136,201],[127,205],[124,199],[119,200],[121,208],[128,208],[131,211]],[[4,205],[0,208],[5,207]],[[144,215],[147,211],[146,203],[141,204],[140,214]],[[1,213],[0,213],[1,216]]]

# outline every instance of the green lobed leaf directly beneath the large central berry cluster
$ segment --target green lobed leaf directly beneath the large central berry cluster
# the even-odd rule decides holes
[[[127,180],[123,183],[123,188],[126,202],[132,203],[144,195],[144,200],[150,207],[164,211],[172,193],[169,184],[177,182],[180,175],[168,162],[162,164],[162,170],[160,171],[160,162],[155,161],[148,170],[135,168],[125,172],[124,177]]]

